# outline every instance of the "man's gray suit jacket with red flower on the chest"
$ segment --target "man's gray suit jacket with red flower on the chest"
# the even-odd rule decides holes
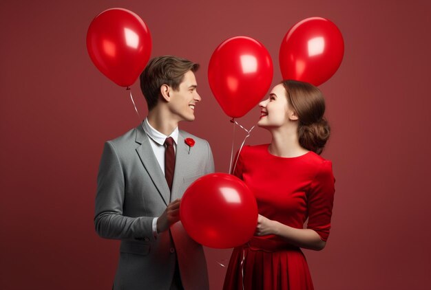
[[[196,144],[189,147],[186,138]],[[101,237],[121,240],[114,289],[169,289],[176,260],[185,290],[209,289],[202,245],[189,237],[181,222],[154,238],[152,222],[193,181],[211,172],[208,142],[185,131],[178,134],[171,192],[142,126],[105,143],[94,224]]]

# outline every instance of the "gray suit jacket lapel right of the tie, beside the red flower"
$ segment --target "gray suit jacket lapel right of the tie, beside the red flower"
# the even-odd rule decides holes
[[[171,201],[178,199],[182,192],[182,184],[184,183],[184,175],[182,168],[187,166],[187,157],[189,157],[189,146],[184,142],[184,137],[178,133],[178,144],[176,146],[175,155],[175,172],[174,181],[172,181]]]

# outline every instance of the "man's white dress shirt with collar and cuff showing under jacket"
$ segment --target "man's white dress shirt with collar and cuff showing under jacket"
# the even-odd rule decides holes
[[[176,152],[176,146],[178,144],[178,126],[171,133],[171,135],[167,136],[163,133],[160,133],[156,129],[154,129],[148,122],[148,118],[145,118],[143,124],[143,129],[145,133],[147,133],[149,137],[149,144],[151,144],[151,148],[153,148],[154,155],[156,155],[156,159],[158,161],[158,165],[160,165],[160,169],[162,169],[163,175],[165,175],[165,140],[167,137],[172,137],[174,139],[174,150]],[[157,217],[153,219],[153,235],[154,238],[158,236],[157,233]]]

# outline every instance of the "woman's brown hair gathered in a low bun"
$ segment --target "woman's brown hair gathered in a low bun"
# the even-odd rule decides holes
[[[317,154],[322,153],[330,135],[324,118],[325,100],[322,92],[308,82],[283,80],[289,106],[298,117],[299,144]]]

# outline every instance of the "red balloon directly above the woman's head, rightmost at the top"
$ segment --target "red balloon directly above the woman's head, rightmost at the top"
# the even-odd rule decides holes
[[[321,17],[299,21],[280,47],[284,80],[300,80],[318,86],[337,71],[344,55],[344,41],[334,23]]]

